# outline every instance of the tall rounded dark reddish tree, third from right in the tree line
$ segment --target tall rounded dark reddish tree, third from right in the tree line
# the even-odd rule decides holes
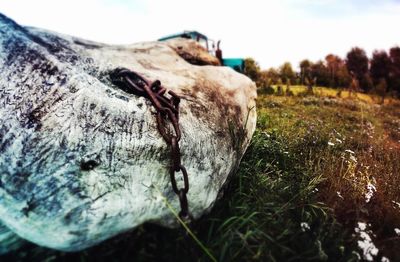
[[[346,55],[346,66],[357,78],[361,88],[368,91],[371,81],[368,78],[368,57],[365,51],[359,47],[353,47]]]

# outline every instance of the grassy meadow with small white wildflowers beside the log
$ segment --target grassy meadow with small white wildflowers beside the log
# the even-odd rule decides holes
[[[185,234],[144,225],[80,253],[30,261],[395,261],[400,101],[337,90],[259,92],[258,126],[224,198]],[[207,253],[207,252],[209,253]],[[196,259],[198,257],[198,259]]]

